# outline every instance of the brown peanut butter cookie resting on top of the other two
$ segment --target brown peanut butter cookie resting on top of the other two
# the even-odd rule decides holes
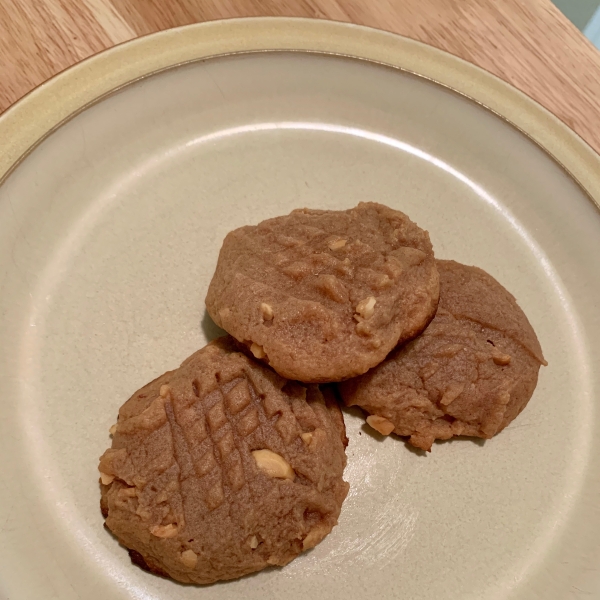
[[[232,231],[206,307],[280,375],[327,382],[366,372],[418,335],[438,296],[427,232],[369,202]]]

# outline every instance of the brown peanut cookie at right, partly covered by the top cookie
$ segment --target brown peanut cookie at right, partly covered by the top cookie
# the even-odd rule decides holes
[[[431,450],[455,435],[491,438],[525,407],[546,361],[514,297],[476,267],[436,261],[440,303],[429,327],[365,375],[340,384],[385,435]]]

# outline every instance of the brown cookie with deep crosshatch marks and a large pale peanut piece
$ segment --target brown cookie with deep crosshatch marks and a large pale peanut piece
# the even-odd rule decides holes
[[[186,583],[285,565],[336,525],[348,484],[329,389],[289,382],[221,338],[137,391],[100,459],[105,525]]]

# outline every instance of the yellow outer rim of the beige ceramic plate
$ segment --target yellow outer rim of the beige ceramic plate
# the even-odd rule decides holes
[[[600,210],[600,154],[524,92],[473,63],[408,37],[299,17],[243,17],[166,29],[117,44],[59,72],[0,114],[0,185],[52,132],[123,87],[187,63],[273,51],[360,59],[448,88],[526,135]]]

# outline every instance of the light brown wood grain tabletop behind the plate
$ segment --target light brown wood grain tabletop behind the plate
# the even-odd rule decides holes
[[[447,50],[512,83],[600,151],[600,52],[550,0],[0,0],[0,111],[134,37],[264,15],[349,21]]]

